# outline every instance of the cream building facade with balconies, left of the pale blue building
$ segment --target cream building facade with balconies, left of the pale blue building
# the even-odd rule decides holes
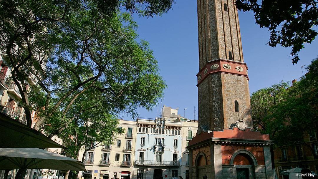
[[[110,146],[106,144],[89,150],[85,157],[86,160],[83,162],[87,171],[79,172],[78,178],[133,178],[136,123],[136,121],[120,120],[118,127],[125,129],[125,133],[114,136],[113,144]],[[132,129],[131,133],[129,128]],[[121,141],[120,146],[118,146],[118,140]],[[80,151],[79,159],[82,158],[83,153],[84,149]]]

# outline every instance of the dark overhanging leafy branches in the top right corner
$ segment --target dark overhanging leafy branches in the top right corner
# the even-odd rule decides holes
[[[292,47],[290,55],[293,64],[299,60],[298,52],[305,43],[311,43],[317,36],[318,1],[276,1],[236,0],[239,10],[254,12],[256,23],[268,28],[271,35],[267,43],[271,47],[280,44]]]

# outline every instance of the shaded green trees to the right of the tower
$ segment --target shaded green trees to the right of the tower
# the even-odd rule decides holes
[[[306,69],[309,73],[291,87],[282,82],[252,93],[252,118],[277,146],[300,143],[314,154],[304,137],[318,128],[318,58]]]

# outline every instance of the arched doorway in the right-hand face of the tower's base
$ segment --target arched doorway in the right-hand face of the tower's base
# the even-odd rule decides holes
[[[237,179],[250,179],[255,176],[255,165],[257,161],[255,156],[248,150],[239,150],[231,157],[234,166],[234,176]]]

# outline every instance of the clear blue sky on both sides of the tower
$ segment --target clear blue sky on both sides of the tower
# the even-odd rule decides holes
[[[150,49],[158,60],[160,74],[167,83],[164,98],[159,106],[176,108],[183,116],[194,119],[194,107],[197,107],[198,33],[197,1],[176,0],[173,9],[161,17],[138,17],[140,39],[150,43]],[[266,45],[269,39],[267,29],[255,24],[250,12],[239,11],[243,56],[248,66],[250,93],[272,86],[280,81],[291,81],[302,76],[301,66],[308,65],[318,55],[318,40],[306,44],[300,52],[301,60],[293,65],[290,48]],[[304,70],[305,73],[305,70]],[[161,104],[162,103],[162,104]],[[141,118],[155,118],[157,107],[152,111],[138,109]],[[197,109],[197,108],[196,108]],[[160,113],[160,107],[159,107]],[[130,116],[122,115],[125,120]],[[197,111],[196,111],[197,119]]]

